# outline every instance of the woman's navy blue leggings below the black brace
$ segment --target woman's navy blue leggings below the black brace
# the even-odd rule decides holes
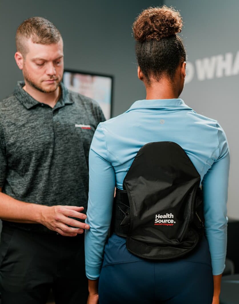
[[[208,242],[179,260],[150,261],[128,252],[113,235],[105,247],[100,304],[212,304],[213,275]]]

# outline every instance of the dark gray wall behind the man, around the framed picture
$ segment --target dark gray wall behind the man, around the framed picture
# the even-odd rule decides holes
[[[62,33],[65,68],[114,76],[113,116],[124,112],[145,89],[137,78],[132,23],[142,9],[158,2],[133,0],[0,0],[0,99],[22,79],[15,60],[15,33],[31,16],[51,20]]]

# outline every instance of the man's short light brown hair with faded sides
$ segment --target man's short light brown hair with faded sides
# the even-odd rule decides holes
[[[58,43],[61,39],[58,29],[49,20],[42,17],[32,17],[21,23],[16,32],[16,49],[23,56],[28,52],[26,40],[33,43],[51,44]]]

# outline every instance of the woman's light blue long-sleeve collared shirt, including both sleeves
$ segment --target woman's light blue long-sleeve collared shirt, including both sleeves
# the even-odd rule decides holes
[[[96,279],[111,223],[114,187],[123,180],[139,149],[149,142],[179,144],[201,176],[205,232],[213,275],[223,272],[227,247],[229,148],[216,120],[197,114],[182,99],[136,101],[125,113],[100,123],[89,154],[86,275]]]

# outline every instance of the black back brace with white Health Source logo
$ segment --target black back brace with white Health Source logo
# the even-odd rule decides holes
[[[137,153],[116,189],[111,229],[139,257],[173,259],[195,248],[203,234],[200,175],[174,142],[153,142]]]

